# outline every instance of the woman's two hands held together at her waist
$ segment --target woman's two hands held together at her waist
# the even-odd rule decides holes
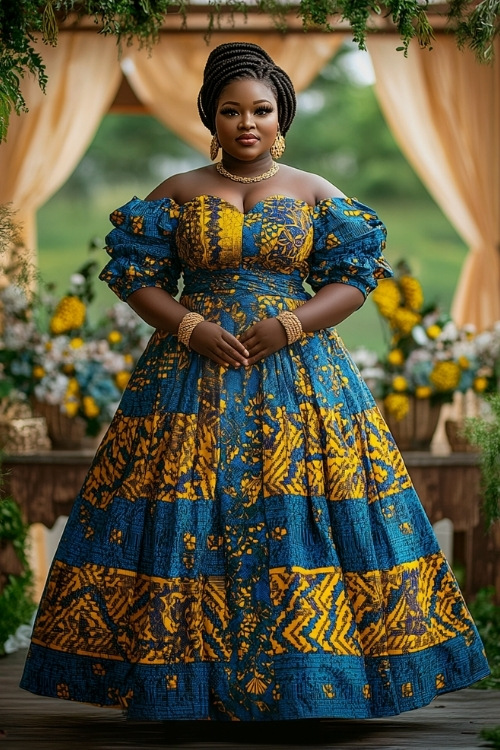
[[[239,338],[217,323],[204,320],[189,339],[190,349],[225,367],[250,367],[286,343],[285,329],[276,318],[254,323]]]

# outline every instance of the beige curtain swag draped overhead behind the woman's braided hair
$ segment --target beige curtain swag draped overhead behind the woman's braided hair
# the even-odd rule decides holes
[[[343,34],[231,34],[230,41],[254,42],[284,68],[297,91],[306,88],[335,54]],[[202,33],[165,35],[151,55],[133,50],[123,61],[125,75],[137,97],[177,135],[208,158],[211,135],[197,109],[203,68],[210,51],[229,41],[227,34],[213,34],[210,43]]]

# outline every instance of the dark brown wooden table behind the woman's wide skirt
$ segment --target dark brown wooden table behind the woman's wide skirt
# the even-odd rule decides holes
[[[52,528],[59,516],[69,514],[92,458],[92,451],[55,450],[5,456],[6,490],[28,523]],[[466,597],[483,586],[494,586],[500,595],[500,524],[486,533],[477,454],[411,452],[404,459],[431,523],[453,522],[454,562],[465,567]]]

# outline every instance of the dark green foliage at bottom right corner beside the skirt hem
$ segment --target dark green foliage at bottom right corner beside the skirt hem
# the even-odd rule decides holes
[[[495,589],[487,586],[478,591],[475,600],[469,604],[470,613],[483,641],[491,675],[475,688],[500,690],[500,607],[495,604]]]

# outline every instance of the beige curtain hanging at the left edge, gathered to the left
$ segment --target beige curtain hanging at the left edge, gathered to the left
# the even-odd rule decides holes
[[[65,182],[109,109],[121,71],[116,42],[88,32],[61,33],[56,48],[40,43],[48,84],[23,81],[29,112],[11,117],[0,146],[0,203],[12,203],[29,250],[36,210]]]

